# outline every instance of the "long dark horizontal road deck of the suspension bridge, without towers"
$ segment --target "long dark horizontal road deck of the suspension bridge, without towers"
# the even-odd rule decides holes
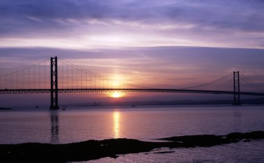
[[[58,93],[77,92],[165,92],[165,93],[195,93],[195,94],[234,94],[233,91],[194,90],[194,89],[58,89]],[[0,89],[0,94],[38,94],[51,93],[51,89]],[[240,92],[240,95],[264,96],[264,93]]]

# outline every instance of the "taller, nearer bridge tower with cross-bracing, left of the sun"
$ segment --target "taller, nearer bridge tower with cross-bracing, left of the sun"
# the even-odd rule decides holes
[[[57,57],[51,57],[51,110],[58,110],[58,66]]]

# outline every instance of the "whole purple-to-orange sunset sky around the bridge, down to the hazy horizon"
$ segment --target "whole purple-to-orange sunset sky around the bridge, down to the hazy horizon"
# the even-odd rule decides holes
[[[0,0],[0,76],[57,55],[145,87],[188,87],[233,71],[263,86],[263,8],[261,0]],[[0,96],[0,105],[14,103],[12,96],[19,105],[32,95]],[[49,95],[33,97],[35,103],[49,100]],[[76,94],[60,99],[108,98]],[[208,95],[126,94],[123,100],[185,98]]]

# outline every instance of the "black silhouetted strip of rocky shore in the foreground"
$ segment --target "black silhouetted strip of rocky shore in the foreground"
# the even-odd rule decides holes
[[[0,162],[69,162],[118,157],[119,154],[149,152],[154,148],[192,148],[216,146],[264,139],[264,131],[231,133],[229,135],[191,135],[168,137],[166,142],[136,139],[89,140],[72,144],[1,144]]]

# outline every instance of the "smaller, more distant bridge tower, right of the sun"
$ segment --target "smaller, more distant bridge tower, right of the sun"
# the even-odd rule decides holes
[[[233,72],[233,105],[241,105],[239,71]]]

